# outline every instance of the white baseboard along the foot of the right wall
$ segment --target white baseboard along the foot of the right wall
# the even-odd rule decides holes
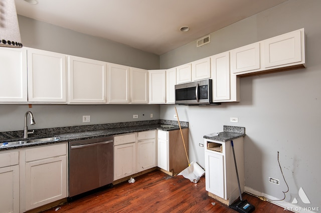
[[[293,212],[299,212],[299,213],[303,213],[303,212],[304,213],[307,213],[307,212],[315,213],[315,211],[311,211],[307,207],[301,207],[301,206],[298,206],[298,205],[294,205],[293,203],[286,202],[284,200],[272,201],[273,199],[278,199],[278,198],[273,197],[273,196],[268,195],[268,194],[265,194],[265,193],[262,193],[260,191],[254,190],[253,188],[250,188],[250,187],[247,187],[247,186],[244,186],[244,191],[248,192],[250,194],[253,194],[255,196],[264,196],[264,197],[266,197],[267,199],[269,199],[268,200],[269,202],[283,207],[284,208],[284,212],[286,212],[286,210],[291,210]]]

